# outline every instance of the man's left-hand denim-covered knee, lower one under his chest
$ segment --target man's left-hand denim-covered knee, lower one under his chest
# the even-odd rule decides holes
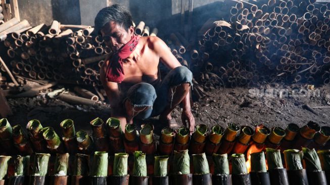
[[[127,92],[127,99],[134,107],[151,107],[157,98],[154,86],[149,83],[137,83]]]

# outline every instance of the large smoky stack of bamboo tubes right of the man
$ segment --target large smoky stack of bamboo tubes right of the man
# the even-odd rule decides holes
[[[179,33],[169,36],[172,54],[188,61],[204,89],[223,82],[230,87],[330,82],[329,3],[226,0],[223,6],[228,10],[223,21],[207,21],[195,42]]]

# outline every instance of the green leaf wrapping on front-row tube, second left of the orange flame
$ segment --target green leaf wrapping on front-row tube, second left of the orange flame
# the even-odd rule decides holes
[[[227,154],[213,154],[214,174],[229,175],[229,163]]]

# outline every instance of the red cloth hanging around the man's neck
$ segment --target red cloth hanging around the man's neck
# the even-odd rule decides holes
[[[140,36],[134,34],[118,52],[110,57],[106,73],[108,81],[121,83],[124,80],[125,73],[123,69],[123,59],[126,59],[131,53],[133,53],[139,40]]]

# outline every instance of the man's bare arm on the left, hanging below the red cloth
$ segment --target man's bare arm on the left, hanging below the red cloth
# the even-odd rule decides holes
[[[120,92],[118,88],[118,84],[116,82],[110,82],[106,79],[106,71],[107,66],[109,64],[109,60],[107,60],[100,68],[100,79],[102,82],[102,85],[104,87],[104,90],[106,91],[107,97],[110,102],[111,106],[111,117],[115,117],[120,120],[120,126],[123,131],[125,131],[125,125],[126,125],[126,117],[124,114],[124,110],[121,106],[121,98],[120,98]]]

